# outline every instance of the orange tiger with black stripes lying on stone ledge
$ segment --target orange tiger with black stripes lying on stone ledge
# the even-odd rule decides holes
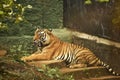
[[[22,57],[21,60],[64,60],[70,68],[101,65],[112,72],[112,74],[119,75],[109,65],[97,58],[88,48],[63,42],[53,35],[51,30],[37,29],[33,40],[40,50],[30,56]]]

